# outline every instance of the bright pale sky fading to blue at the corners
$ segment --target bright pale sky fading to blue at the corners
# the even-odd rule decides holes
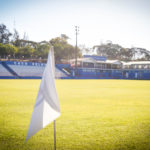
[[[61,34],[91,48],[107,40],[150,50],[150,0],[0,0],[0,24],[32,41]]]

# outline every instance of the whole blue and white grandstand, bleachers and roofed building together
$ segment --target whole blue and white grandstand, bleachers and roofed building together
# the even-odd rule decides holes
[[[150,80],[150,61],[122,62],[103,56],[85,55],[55,65],[57,79],[136,79]],[[0,61],[1,79],[40,79],[45,63]]]

